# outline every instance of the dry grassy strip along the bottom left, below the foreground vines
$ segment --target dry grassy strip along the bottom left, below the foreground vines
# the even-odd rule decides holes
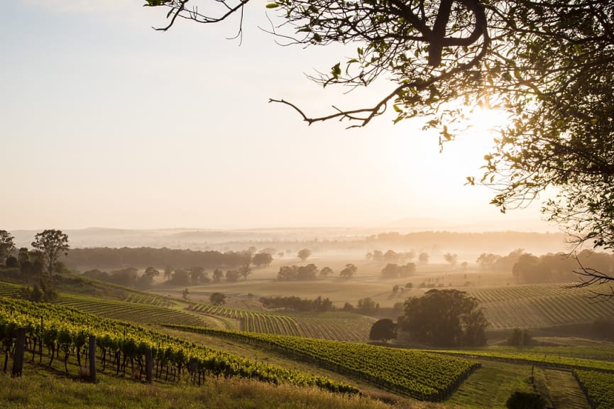
[[[33,393],[35,391],[35,393]],[[211,379],[204,386],[150,386],[99,376],[96,385],[48,376],[38,366],[26,366],[22,378],[0,376],[2,408],[340,408],[389,409],[368,398],[335,396],[311,388],[273,386],[255,381]],[[415,408],[429,408],[416,405]]]

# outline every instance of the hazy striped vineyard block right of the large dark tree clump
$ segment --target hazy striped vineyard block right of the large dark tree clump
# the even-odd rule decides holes
[[[614,299],[592,300],[586,288],[540,284],[474,290],[490,328],[539,328],[614,315]]]

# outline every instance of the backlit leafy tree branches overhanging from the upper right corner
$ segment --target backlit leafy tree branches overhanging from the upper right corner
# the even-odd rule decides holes
[[[218,23],[249,0],[146,0],[177,18]],[[221,7],[220,7],[221,6]],[[263,6],[264,7],[264,6]],[[596,0],[270,0],[270,31],[285,44],[355,45],[311,78],[322,86],[393,82],[366,107],[334,107],[308,124],[365,126],[388,108],[453,140],[478,107],[508,115],[483,175],[493,205],[522,208],[549,187],[544,213],[580,245],[614,249],[614,3]],[[610,280],[614,278],[610,277]]]

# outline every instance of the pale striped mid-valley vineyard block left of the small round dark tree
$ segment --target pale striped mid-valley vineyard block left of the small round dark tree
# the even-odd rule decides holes
[[[191,305],[189,310],[237,320],[240,329],[246,332],[348,342],[367,342],[369,330],[375,322],[373,318],[347,312],[285,315],[205,304]]]

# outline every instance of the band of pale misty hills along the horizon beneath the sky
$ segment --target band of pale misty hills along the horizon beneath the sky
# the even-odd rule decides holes
[[[434,221],[432,221],[433,224]],[[425,224],[428,224],[425,222]],[[435,224],[436,225],[436,224]],[[424,228],[408,231],[405,228],[358,229],[344,227],[309,227],[295,229],[69,229],[63,230],[69,237],[72,249],[92,247],[151,247],[160,249],[192,249],[236,251],[249,246],[280,250],[297,246],[312,249],[371,249],[374,244],[401,246],[402,249],[433,248],[458,251],[505,253],[513,249],[525,249],[534,253],[558,252],[566,249],[565,236],[560,233],[527,231],[490,231],[486,233]],[[392,232],[392,233],[390,233]],[[15,230],[17,247],[31,247],[36,230]]]

